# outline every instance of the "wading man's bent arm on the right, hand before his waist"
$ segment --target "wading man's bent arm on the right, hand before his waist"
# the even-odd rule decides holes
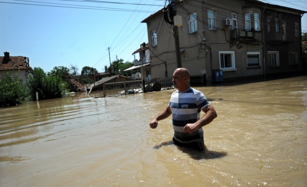
[[[200,127],[210,124],[217,117],[217,113],[213,108],[213,106],[211,105],[206,106],[202,110],[205,112],[203,118],[201,118],[199,121],[195,122],[194,124],[185,125],[184,132],[189,132],[190,134],[192,134],[192,132],[199,129]]]

